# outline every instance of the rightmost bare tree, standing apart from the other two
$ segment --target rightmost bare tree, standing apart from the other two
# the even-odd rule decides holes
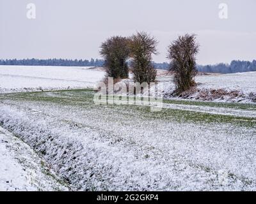
[[[171,43],[168,47],[168,59],[170,59],[170,70],[174,72],[176,93],[194,86],[196,70],[196,54],[199,52],[199,45],[196,43],[195,34],[185,34]]]

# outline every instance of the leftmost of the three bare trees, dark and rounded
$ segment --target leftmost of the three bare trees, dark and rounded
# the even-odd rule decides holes
[[[108,77],[128,78],[129,59],[128,40],[122,36],[113,36],[100,46],[100,54],[104,57]]]

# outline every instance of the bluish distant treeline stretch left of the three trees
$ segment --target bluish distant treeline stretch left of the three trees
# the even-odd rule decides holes
[[[0,60],[0,65],[20,66],[103,66],[102,59],[6,59]]]

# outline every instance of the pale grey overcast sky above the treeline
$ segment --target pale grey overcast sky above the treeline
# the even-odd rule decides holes
[[[35,3],[36,18],[27,18]],[[228,18],[219,18],[219,4]],[[199,64],[256,59],[255,0],[0,0],[0,59],[99,56],[112,35],[148,31],[159,40],[157,62],[177,36],[195,33]]]

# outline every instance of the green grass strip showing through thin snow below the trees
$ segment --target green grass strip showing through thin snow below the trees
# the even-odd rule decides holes
[[[161,112],[151,112],[149,106],[138,105],[95,105],[93,103],[93,89],[76,89],[68,91],[45,91],[45,92],[22,92],[13,94],[2,94],[0,99],[13,101],[34,101],[40,103],[58,103],[67,106],[79,106],[85,109],[97,108],[102,112],[124,112],[125,117],[143,117],[145,120],[165,120],[177,122],[225,123],[236,126],[256,127],[256,120],[248,117],[237,117],[232,115],[218,115],[212,113],[194,112],[190,110],[178,110],[164,108]],[[243,110],[256,110],[255,105],[214,103],[202,101],[164,100],[164,103],[212,106],[222,108],[234,108]],[[135,114],[134,114],[135,113]]]

